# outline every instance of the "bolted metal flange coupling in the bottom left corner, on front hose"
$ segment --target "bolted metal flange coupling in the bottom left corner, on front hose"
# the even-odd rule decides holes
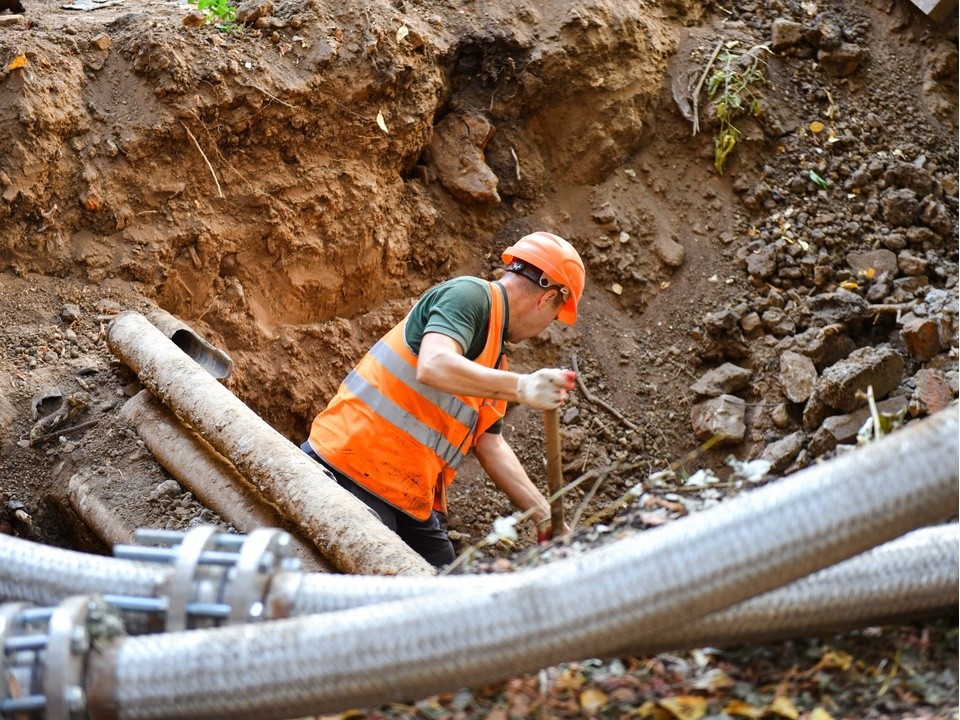
[[[85,716],[88,624],[98,606],[88,595],[69,597],[55,608],[0,605],[0,717]]]

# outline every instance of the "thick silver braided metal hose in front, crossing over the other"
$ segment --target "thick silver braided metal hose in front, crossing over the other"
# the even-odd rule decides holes
[[[126,638],[89,659],[92,718],[276,718],[480,684],[622,648],[957,506],[957,408],[506,589]],[[946,511],[946,512],[945,512]]]

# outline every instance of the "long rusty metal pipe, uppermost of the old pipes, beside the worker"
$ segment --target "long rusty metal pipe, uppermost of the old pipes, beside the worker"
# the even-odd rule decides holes
[[[183,354],[142,315],[117,315],[107,344],[167,407],[351,573],[432,575],[434,568],[296,445]]]

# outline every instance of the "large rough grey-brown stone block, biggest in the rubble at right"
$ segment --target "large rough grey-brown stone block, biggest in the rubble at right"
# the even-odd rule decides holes
[[[903,358],[889,345],[860,348],[823,371],[819,390],[827,405],[850,412],[864,404],[868,387],[878,400],[890,394],[900,384],[903,368]]]

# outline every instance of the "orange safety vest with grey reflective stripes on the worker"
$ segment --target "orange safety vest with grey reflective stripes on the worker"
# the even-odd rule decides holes
[[[490,291],[487,340],[474,362],[507,369],[501,353],[503,289]],[[477,438],[506,412],[505,400],[453,395],[417,381],[407,318],[374,345],[313,421],[310,444],[354,482],[418,520],[446,512],[446,489]]]

